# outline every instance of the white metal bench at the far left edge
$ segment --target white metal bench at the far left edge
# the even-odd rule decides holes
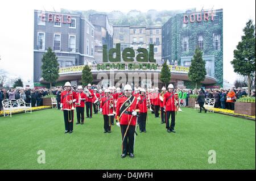
[[[32,113],[31,103],[25,103],[23,99],[5,99],[2,100],[3,104],[3,116],[10,116],[11,113],[17,112],[17,111],[25,111],[30,110],[30,113]],[[28,105],[28,106],[27,106]],[[7,115],[6,115],[7,114]]]

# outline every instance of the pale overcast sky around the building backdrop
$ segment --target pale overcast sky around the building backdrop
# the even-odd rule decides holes
[[[33,78],[33,44],[34,44],[34,10],[60,11],[96,10],[110,12],[119,10],[129,12],[139,10],[147,12],[150,9],[183,10],[196,8],[223,9],[223,64],[224,79],[233,83],[238,75],[234,73],[230,61],[233,60],[233,50],[241,41],[242,30],[249,19],[255,24],[255,0],[233,1],[169,1],[169,0],[43,0],[43,1],[1,1],[0,3],[0,69],[4,69],[9,77],[20,77],[23,81]]]

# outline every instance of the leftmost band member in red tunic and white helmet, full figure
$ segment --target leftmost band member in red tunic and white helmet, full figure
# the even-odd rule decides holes
[[[66,82],[64,85],[65,91],[61,92],[60,110],[64,114],[65,133],[73,132],[73,119],[74,119],[74,103],[77,100],[75,91],[71,90],[71,83]]]

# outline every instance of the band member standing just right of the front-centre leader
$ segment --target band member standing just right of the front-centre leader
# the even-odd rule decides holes
[[[141,89],[141,100],[139,100],[138,103],[138,108],[139,108],[139,117],[138,117],[138,122],[139,122],[139,132],[144,132],[146,133],[146,119],[147,119],[147,95],[146,95],[146,90]]]

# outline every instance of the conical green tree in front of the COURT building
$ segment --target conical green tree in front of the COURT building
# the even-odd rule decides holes
[[[188,78],[190,81],[196,83],[197,89],[197,83],[204,81],[205,75],[207,75],[207,71],[205,69],[205,61],[203,60],[203,52],[197,46],[191,59],[191,65],[189,66]]]

